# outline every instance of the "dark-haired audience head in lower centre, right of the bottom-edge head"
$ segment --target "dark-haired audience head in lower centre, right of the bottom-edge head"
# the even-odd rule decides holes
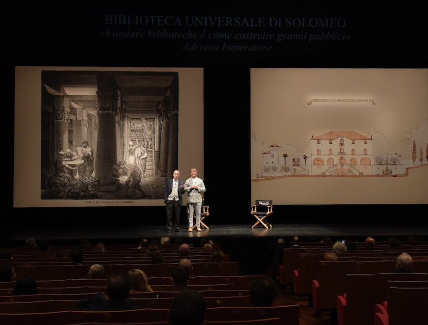
[[[277,285],[270,275],[260,275],[250,286],[250,299],[252,306],[273,306],[273,302],[277,296],[277,290]]]

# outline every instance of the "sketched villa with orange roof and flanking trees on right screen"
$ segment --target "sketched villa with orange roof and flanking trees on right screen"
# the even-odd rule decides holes
[[[261,153],[261,173],[257,178],[286,175],[398,176],[406,175],[406,168],[426,162],[425,152],[422,147],[416,147],[415,141],[413,146],[409,146],[410,152],[402,157],[401,153],[375,152],[373,136],[355,131],[312,135],[308,145],[308,155],[288,155],[278,144],[271,144],[268,151]]]

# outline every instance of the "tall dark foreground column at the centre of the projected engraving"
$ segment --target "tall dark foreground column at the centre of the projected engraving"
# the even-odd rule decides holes
[[[99,74],[98,79],[98,136],[95,157],[95,177],[100,179],[103,190],[116,181],[112,175],[116,163],[116,114],[117,85],[114,76]],[[113,190],[113,189],[112,189]]]

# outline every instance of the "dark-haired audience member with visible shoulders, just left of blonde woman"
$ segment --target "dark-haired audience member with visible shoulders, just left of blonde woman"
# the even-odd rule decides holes
[[[129,301],[131,290],[128,274],[115,273],[110,276],[105,292],[106,301],[95,304],[84,310],[87,311],[109,311],[140,309],[140,306]],[[98,296],[98,295],[97,295]],[[101,299],[100,299],[101,300]]]

